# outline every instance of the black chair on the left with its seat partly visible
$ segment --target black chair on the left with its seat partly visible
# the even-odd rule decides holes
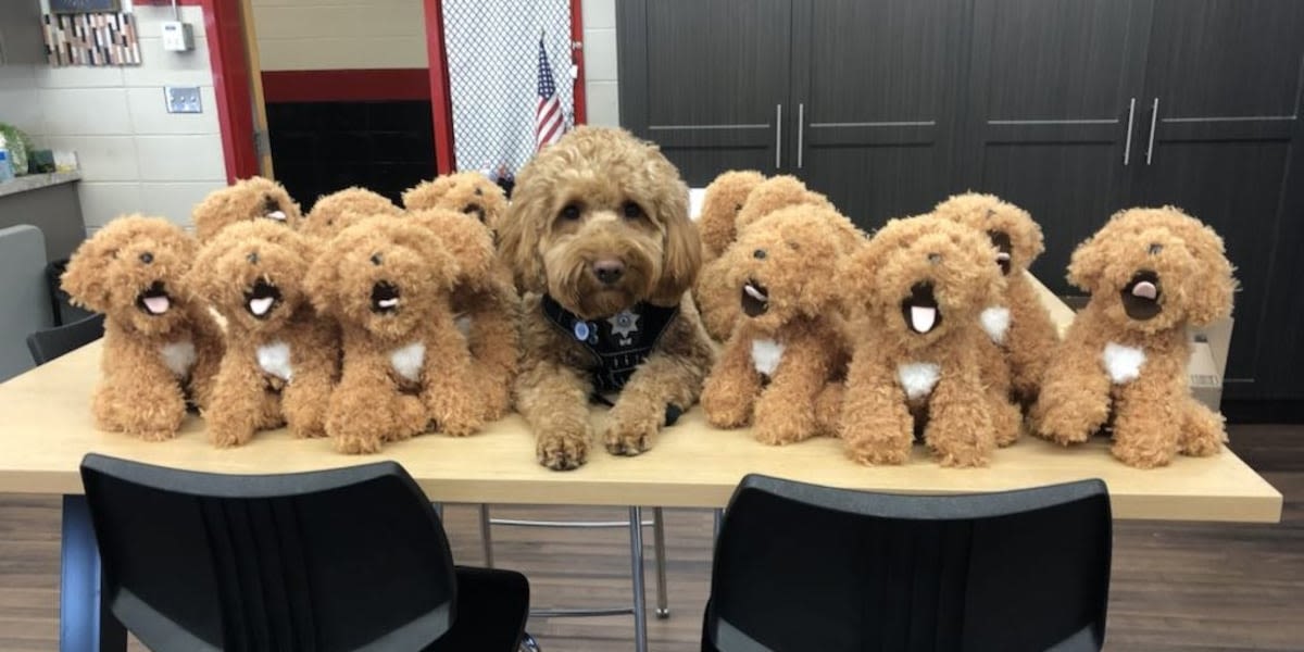
[[[156,651],[515,651],[518,572],[455,569],[402,467],[227,476],[100,455],[82,484],[106,602]]]

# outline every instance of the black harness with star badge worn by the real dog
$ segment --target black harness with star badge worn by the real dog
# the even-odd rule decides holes
[[[662,308],[642,301],[612,317],[582,319],[548,295],[544,295],[542,306],[548,321],[579,342],[597,361],[591,373],[595,400],[600,403],[608,403],[602,393],[617,393],[625,387],[679,314],[678,305]],[[683,409],[666,406],[665,412],[665,422],[670,425]]]

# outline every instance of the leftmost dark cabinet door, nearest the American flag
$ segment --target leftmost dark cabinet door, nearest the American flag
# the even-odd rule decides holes
[[[622,125],[661,145],[690,185],[730,168],[775,173],[792,124],[790,0],[622,0],[617,25]]]

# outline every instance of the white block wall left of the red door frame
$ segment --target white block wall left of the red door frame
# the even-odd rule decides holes
[[[192,206],[226,185],[201,8],[181,8],[196,31],[190,52],[163,51],[159,22],[171,8],[133,10],[141,67],[0,67],[0,120],[27,130],[38,147],[77,151],[89,231],[133,211],[189,224]],[[203,112],[168,113],[166,85],[200,86]]]

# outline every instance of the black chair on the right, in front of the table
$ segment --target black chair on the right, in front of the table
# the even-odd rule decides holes
[[[751,475],[716,542],[702,649],[1101,649],[1111,537],[1099,480],[895,496]]]

